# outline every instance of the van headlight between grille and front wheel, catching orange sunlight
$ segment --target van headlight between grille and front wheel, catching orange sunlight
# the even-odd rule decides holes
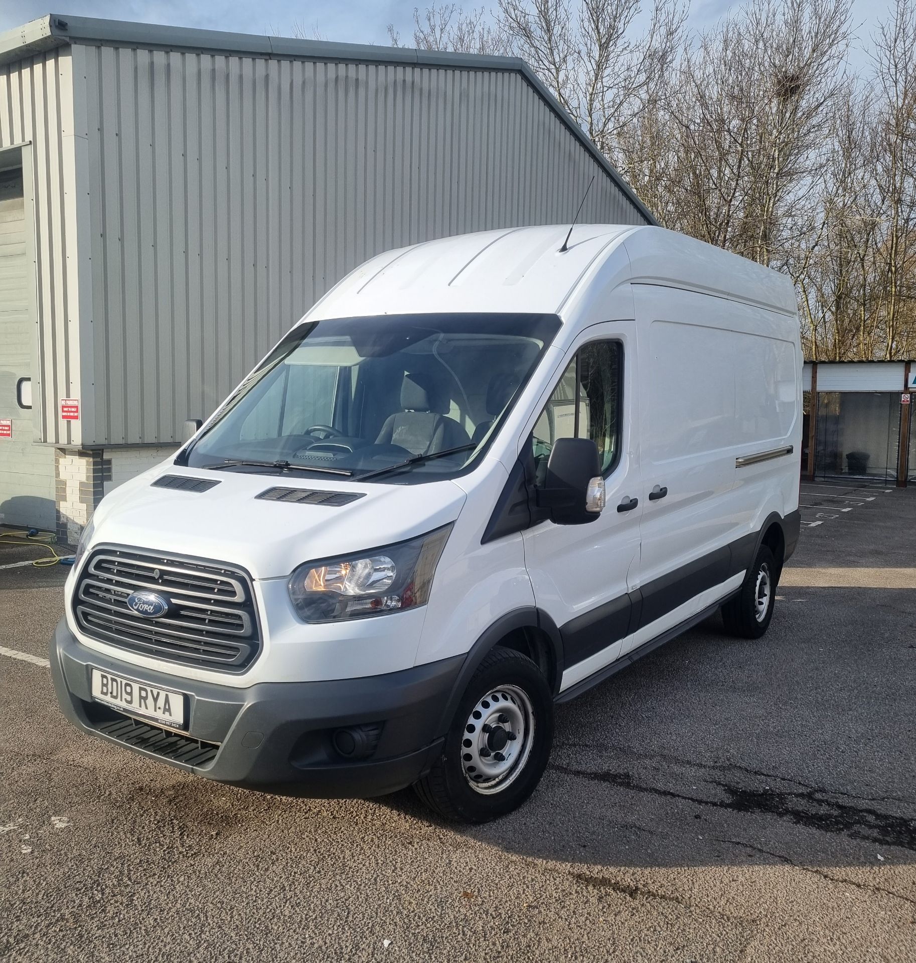
[[[326,561],[290,576],[289,595],[305,622],[334,622],[426,605],[451,525],[410,541]]]

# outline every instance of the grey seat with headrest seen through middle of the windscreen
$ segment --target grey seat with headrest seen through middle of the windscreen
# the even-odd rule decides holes
[[[441,386],[425,372],[405,372],[401,407],[381,426],[377,445],[399,445],[411,455],[433,455],[470,444],[467,431],[447,418],[448,399]]]

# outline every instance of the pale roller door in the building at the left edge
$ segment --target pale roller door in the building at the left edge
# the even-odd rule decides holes
[[[0,523],[54,531],[54,449],[32,431],[35,324],[22,170],[0,170]]]

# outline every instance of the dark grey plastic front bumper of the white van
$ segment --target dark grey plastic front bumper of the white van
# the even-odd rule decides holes
[[[447,725],[442,708],[464,657],[359,679],[258,683],[237,689],[101,656],[82,645],[62,619],[50,659],[65,716],[92,736],[233,785],[268,789],[297,784],[303,795],[362,797],[404,789],[432,766]],[[151,740],[110,735],[124,728],[118,722],[129,717],[92,701],[92,666],[186,693],[186,735],[172,740],[160,739],[157,730]],[[334,748],[337,729],[372,724],[380,724],[380,732],[368,758],[353,761]],[[194,765],[169,757],[169,746],[183,738],[200,742],[199,756],[205,761]],[[157,748],[160,743],[164,747]]]

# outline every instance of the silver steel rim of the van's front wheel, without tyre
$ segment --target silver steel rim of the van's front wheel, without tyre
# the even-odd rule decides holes
[[[528,693],[518,686],[486,690],[461,737],[461,771],[467,784],[482,795],[501,793],[525,768],[534,741],[535,710]]]

